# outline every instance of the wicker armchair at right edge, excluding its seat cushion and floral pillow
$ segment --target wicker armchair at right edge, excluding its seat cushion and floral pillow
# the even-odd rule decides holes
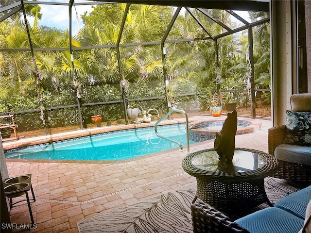
[[[292,112],[311,112],[311,93],[294,94],[291,97]],[[283,144],[286,126],[268,129],[268,152],[275,156],[278,145]],[[311,155],[310,155],[311,156]],[[273,175],[276,178],[294,181],[304,185],[311,184],[311,166],[279,160],[279,169]]]

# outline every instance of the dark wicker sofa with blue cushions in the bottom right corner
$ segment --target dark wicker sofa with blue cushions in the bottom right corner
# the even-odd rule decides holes
[[[191,205],[191,216],[194,233],[310,233],[311,186],[235,221],[202,200]]]

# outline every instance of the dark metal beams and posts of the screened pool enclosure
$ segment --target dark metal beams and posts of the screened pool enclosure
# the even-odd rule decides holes
[[[258,20],[256,22],[249,23],[245,19],[243,19],[242,17],[240,17],[239,15],[234,13],[233,9],[236,9],[236,10],[255,10],[255,9],[253,9],[255,7],[258,11],[269,11],[269,2],[268,2],[268,7],[267,7],[267,2],[266,1],[263,1],[263,2],[257,2],[256,1],[256,2],[254,2],[252,0],[242,0],[242,1],[234,1],[234,3],[231,3],[231,4],[229,4],[229,3],[228,4],[224,4],[225,2],[230,2],[230,1],[222,1],[222,3],[228,7],[227,9],[223,9],[224,7],[220,7],[220,3],[219,2],[217,3],[217,1],[213,1],[213,0],[201,1],[200,3],[198,3],[197,1],[169,1],[170,2],[169,4],[166,1],[143,1],[143,0],[141,0],[141,1],[135,1],[135,0],[133,0],[133,1],[131,1],[131,0],[124,0],[124,1],[122,1],[122,0],[121,1],[120,0],[101,1],[101,0],[97,0],[95,2],[92,1],[90,3],[88,3],[88,2],[74,2],[74,0],[69,0],[68,3],[64,3],[64,2],[46,2],[46,1],[23,1],[23,0],[21,0],[19,2],[15,2],[15,3],[13,3],[13,4],[9,5],[9,6],[2,7],[0,9],[0,13],[3,13],[3,12],[8,11],[8,10],[11,10],[7,14],[5,14],[4,16],[0,17],[0,22],[5,20],[6,18],[16,14],[20,10],[23,11],[25,22],[26,22],[26,14],[25,14],[25,9],[24,9],[24,4],[67,5],[67,6],[69,6],[69,38],[72,38],[72,25],[71,25],[71,20],[70,20],[71,19],[72,6],[75,6],[75,5],[96,5],[96,4],[114,4],[114,3],[120,3],[120,2],[125,2],[127,4],[126,4],[126,9],[125,9],[125,12],[124,12],[124,15],[123,15],[123,18],[122,18],[122,22],[121,22],[121,27],[120,27],[120,31],[119,31],[119,35],[118,35],[118,41],[117,41],[117,43],[115,45],[102,45],[102,46],[90,46],[90,47],[76,48],[76,47],[72,46],[71,39],[70,39],[69,40],[69,48],[33,48],[31,37],[30,37],[30,33],[29,33],[29,27],[28,27],[28,24],[26,23],[27,34],[28,34],[29,43],[30,43],[30,49],[2,49],[1,51],[4,51],[4,52],[10,52],[10,51],[31,51],[33,58],[35,58],[34,51],[69,50],[70,54],[71,54],[72,79],[73,79],[73,82],[74,82],[74,80],[76,78],[75,77],[75,72],[74,72],[74,60],[73,60],[73,55],[72,55],[74,50],[100,49],[100,48],[116,48],[116,50],[117,50],[117,57],[118,57],[118,63],[119,63],[119,73],[120,73],[120,77],[122,78],[120,47],[123,47],[123,46],[160,44],[160,46],[161,46],[161,53],[162,53],[162,64],[163,64],[164,81],[168,82],[167,71],[166,71],[166,68],[165,68],[165,63],[166,63],[166,53],[164,52],[165,51],[165,43],[190,42],[190,41],[211,39],[211,40],[214,41],[215,49],[216,49],[216,52],[215,52],[215,65],[218,66],[218,46],[217,46],[218,42],[217,42],[217,40],[219,38],[222,38],[224,36],[227,36],[227,35],[230,35],[230,34],[233,34],[233,33],[241,32],[241,31],[244,31],[244,30],[248,30],[249,61],[251,63],[250,64],[250,67],[251,67],[251,77],[250,77],[250,81],[251,81],[251,90],[250,90],[250,92],[251,92],[251,109],[252,109],[252,117],[253,118],[256,117],[255,92],[259,91],[259,90],[255,90],[252,29],[255,26],[258,26],[260,24],[269,22],[270,18],[264,18],[264,19]],[[220,22],[219,20],[217,20],[216,18],[211,16],[209,13],[207,13],[202,8],[202,3],[203,2],[205,2],[205,5],[206,5],[205,8],[206,9],[223,9],[226,12],[228,12],[229,14],[231,14],[233,17],[235,17],[239,21],[241,21],[244,24],[244,26],[236,28],[236,29],[233,29],[233,30],[230,29],[225,24],[223,24],[222,22]],[[122,35],[122,32],[123,32],[125,20],[126,20],[127,13],[129,11],[129,8],[130,8],[131,4],[154,4],[154,5],[178,6],[176,11],[175,11],[174,16],[172,17],[172,20],[171,20],[170,24],[168,25],[168,28],[167,28],[166,32],[164,33],[164,35],[163,35],[163,37],[161,39],[161,41],[120,44],[120,42],[121,42],[121,35]],[[234,7],[234,5],[235,5],[235,7]],[[209,6],[211,6],[211,7],[209,7]],[[177,18],[177,16],[178,16],[178,14],[179,14],[179,12],[180,12],[182,7],[185,7],[185,9],[189,12],[190,16],[207,33],[208,37],[204,37],[204,38],[191,38],[191,39],[178,39],[178,40],[167,40],[167,36],[170,33],[170,31],[171,31],[171,29],[173,27],[173,24],[174,24],[174,22],[175,22],[175,20],[176,20],[176,18]],[[217,24],[219,24],[223,28],[225,28],[227,30],[227,32],[219,34],[219,35],[216,35],[216,36],[212,36],[211,33],[209,33],[207,31],[207,29],[204,27],[204,25],[200,22],[200,20],[190,11],[189,7],[196,8],[203,15],[205,15],[208,18],[210,18],[211,20],[213,20],[214,22],[216,22]],[[217,85],[217,90],[219,90],[219,84]],[[167,88],[166,88],[166,91],[167,91]],[[231,91],[236,91],[236,90],[231,90]],[[243,91],[247,91],[247,90],[243,90]],[[270,89],[265,89],[265,91],[270,91]],[[186,94],[186,95],[188,95],[188,94]],[[183,95],[179,95],[179,96],[183,96]],[[158,98],[164,98],[164,97],[156,97],[154,99],[158,99]],[[124,99],[124,97],[123,97],[123,99]],[[146,100],[146,99],[150,99],[150,98],[145,98],[144,100]],[[137,99],[137,100],[143,100],[143,99]],[[51,109],[61,109],[61,108],[68,108],[68,107],[78,107],[80,125],[81,125],[81,129],[83,129],[84,126],[83,126],[83,116],[82,116],[82,112],[81,112],[81,106],[90,106],[90,105],[108,104],[108,103],[119,103],[119,102],[122,102],[122,101],[121,100],[116,100],[116,101],[108,101],[108,102],[100,102],[100,103],[81,104],[80,98],[77,95],[77,104],[75,104],[75,105],[62,106],[62,107],[60,107],[60,106],[59,107],[51,107],[51,108],[47,108],[47,109],[51,110]],[[169,99],[167,99],[167,110],[169,110],[170,106],[171,106],[171,102],[170,102]],[[126,107],[127,106],[125,104],[125,100],[123,100],[124,117],[125,117],[126,123],[128,123]],[[41,107],[40,107],[40,109],[42,110]],[[38,110],[19,111],[19,112],[15,112],[15,114],[26,113],[26,112],[36,112],[36,111],[38,111]],[[11,114],[13,114],[13,113],[11,113]],[[46,126],[45,126],[45,133],[47,135]]]

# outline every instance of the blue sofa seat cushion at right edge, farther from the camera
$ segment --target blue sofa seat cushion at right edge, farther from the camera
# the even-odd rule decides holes
[[[285,210],[297,217],[305,219],[306,209],[311,200],[311,186],[303,188],[281,200],[276,201],[275,207]]]

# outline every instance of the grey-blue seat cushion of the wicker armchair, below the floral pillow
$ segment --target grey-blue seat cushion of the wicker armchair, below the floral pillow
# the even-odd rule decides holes
[[[311,146],[280,144],[274,156],[277,160],[311,166]]]

